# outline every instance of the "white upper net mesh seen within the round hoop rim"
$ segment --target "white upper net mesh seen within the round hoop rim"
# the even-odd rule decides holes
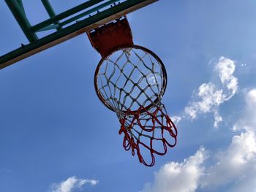
[[[166,86],[165,68],[153,54],[129,47],[102,60],[95,83],[99,98],[110,110],[135,111],[161,100]]]

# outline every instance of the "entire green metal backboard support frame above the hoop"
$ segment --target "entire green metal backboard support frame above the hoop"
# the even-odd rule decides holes
[[[61,12],[59,15],[55,14],[48,0],[41,0],[50,18],[35,26],[31,26],[29,20],[26,18],[22,0],[5,1],[30,43],[2,55],[0,57],[0,69],[15,64],[17,61],[39,53],[49,47],[58,45],[79,34],[83,34],[86,31],[91,31],[94,28],[158,0],[89,0],[77,7]],[[86,11],[84,11],[85,9]],[[82,13],[78,14],[78,12]],[[74,16],[70,18],[71,15]],[[80,18],[82,19],[78,21]],[[74,23],[75,21],[76,23]],[[37,32],[54,28],[56,31],[52,34],[42,38],[37,37]]]

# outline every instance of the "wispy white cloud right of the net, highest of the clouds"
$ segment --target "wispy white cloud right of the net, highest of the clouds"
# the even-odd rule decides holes
[[[185,113],[190,118],[197,118],[198,114],[214,112],[214,127],[218,127],[222,121],[218,107],[225,101],[231,99],[238,90],[238,79],[233,76],[236,65],[234,61],[221,57],[215,70],[222,82],[222,88],[218,88],[214,82],[203,83],[198,88],[195,101],[190,101],[189,106],[185,107]]]

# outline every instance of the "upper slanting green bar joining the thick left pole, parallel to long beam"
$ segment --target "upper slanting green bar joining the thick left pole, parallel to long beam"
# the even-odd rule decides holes
[[[44,20],[44,21],[42,21],[42,23],[38,23],[37,25],[33,26],[31,28],[31,30],[36,32],[36,31],[38,31],[41,28],[44,28],[46,26],[49,26],[50,24],[56,23],[59,20],[62,20],[64,18],[69,17],[70,15],[73,15],[73,14],[75,14],[77,12],[82,11],[83,9],[87,9],[87,8],[89,8],[91,6],[94,6],[94,4],[98,4],[101,1],[104,1],[104,0],[89,0],[89,1],[86,1],[85,3],[80,4],[80,5],[76,6],[76,7],[73,7],[72,9],[68,9],[65,12],[61,12],[59,15],[56,15],[53,18],[50,18],[48,20]]]

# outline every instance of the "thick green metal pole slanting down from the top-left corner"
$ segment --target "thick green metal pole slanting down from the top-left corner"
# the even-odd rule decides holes
[[[5,0],[7,6],[12,12],[12,15],[17,20],[20,28],[23,33],[26,35],[26,38],[29,39],[29,42],[34,42],[38,39],[37,35],[34,32],[31,32],[31,25],[29,20],[26,18],[25,11],[20,0]],[[21,4],[21,5],[20,5]]]

